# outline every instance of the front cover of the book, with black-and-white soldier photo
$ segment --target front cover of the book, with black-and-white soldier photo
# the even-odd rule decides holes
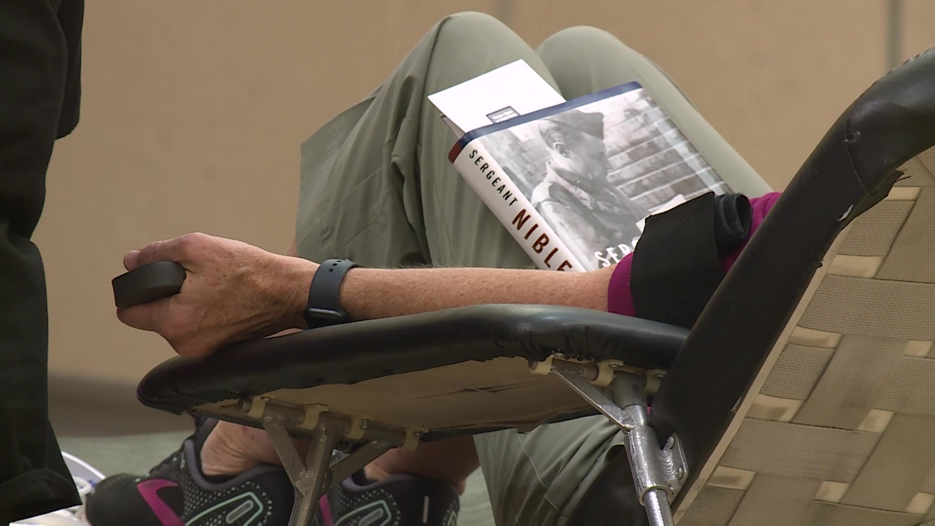
[[[639,84],[616,91],[477,138],[586,270],[632,252],[651,213],[730,191]]]

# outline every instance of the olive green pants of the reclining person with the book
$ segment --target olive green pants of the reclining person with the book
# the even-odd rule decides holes
[[[427,96],[524,59],[571,99],[638,80],[736,191],[768,192],[652,62],[610,34],[571,28],[533,50],[481,13],[446,17],[377,90],[302,144],[299,256],[362,265],[532,267],[448,161],[457,138]],[[499,525],[564,524],[622,435],[603,416],[475,439]]]

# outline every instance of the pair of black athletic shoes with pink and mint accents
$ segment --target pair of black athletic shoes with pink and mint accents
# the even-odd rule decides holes
[[[236,477],[201,473],[201,446],[216,420],[149,475],[108,476],[94,488],[84,516],[92,526],[284,526],[295,492],[280,466],[258,466]],[[332,461],[339,460],[336,455]],[[367,482],[360,472],[319,503],[316,526],[455,526],[460,510],[450,485],[410,475]]]

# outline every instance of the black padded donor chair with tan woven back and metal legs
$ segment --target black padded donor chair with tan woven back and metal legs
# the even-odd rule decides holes
[[[154,265],[115,292],[178,292]],[[626,448],[569,525],[908,526],[935,524],[933,342],[935,50],[843,111],[690,329],[479,305],[171,358],[138,398],[266,429],[295,525],[389,448],[601,416]]]

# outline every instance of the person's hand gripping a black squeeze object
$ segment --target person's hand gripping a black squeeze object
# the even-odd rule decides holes
[[[305,259],[207,234],[156,241],[123,256],[126,270],[155,261],[176,261],[185,268],[180,293],[118,309],[117,317],[130,327],[159,333],[188,357],[299,327],[318,268]]]

